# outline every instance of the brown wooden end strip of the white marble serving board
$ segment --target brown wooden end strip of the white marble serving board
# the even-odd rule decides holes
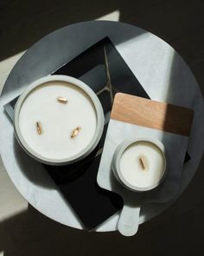
[[[114,98],[111,118],[188,136],[194,111],[168,103],[118,93]]]

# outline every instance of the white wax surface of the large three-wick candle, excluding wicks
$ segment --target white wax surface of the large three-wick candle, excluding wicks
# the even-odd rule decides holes
[[[57,101],[67,98],[67,104]],[[42,133],[36,131],[41,121]],[[68,82],[46,82],[25,98],[19,113],[19,128],[24,141],[43,157],[62,160],[78,154],[92,141],[97,116],[92,100]],[[71,138],[74,128],[79,134]]]

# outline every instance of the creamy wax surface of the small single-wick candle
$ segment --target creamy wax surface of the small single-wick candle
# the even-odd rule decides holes
[[[143,161],[144,169],[139,161]],[[124,180],[134,187],[156,185],[164,173],[165,160],[160,148],[149,141],[137,141],[126,148],[119,161]]]

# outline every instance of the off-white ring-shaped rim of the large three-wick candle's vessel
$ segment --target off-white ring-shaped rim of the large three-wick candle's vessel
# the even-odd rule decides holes
[[[74,154],[71,157],[67,157],[63,159],[48,158],[35,152],[35,150],[30,148],[27,142],[23,139],[21,129],[19,127],[19,114],[22,108],[22,104],[25,101],[26,97],[33,90],[43,86],[43,84],[46,84],[47,82],[54,82],[54,81],[69,83],[81,89],[90,98],[96,112],[97,123],[96,123],[95,133],[92,137],[92,141],[86,146],[86,148],[83,148],[78,154]],[[22,95],[19,96],[15,106],[14,131],[15,131],[17,141],[30,156],[32,156],[36,160],[41,161],[43,163],[53,164],[53,165],[63,165],[63,164],[70,164],[70,163],[73,163],[74,161],[77,161],[78,159],[81,160],[85,158],[88,154],[92,152],[94,148],[96,148],[101,138],[101,135],[103,133],[104,121],[105,121],[104,111],[101,106],[101,103],[99,102],[99,98],[97,97],[97,95],[95,95],[92,89],[88,85],[86,85],[85,82],[82,82],[79,79],[73,76],[68,76],[68,75],[48,75],[48,76],[41,77],[38,80],[35,80],[35,82],[32,82],[29,85],[29,87],[22,92]]]

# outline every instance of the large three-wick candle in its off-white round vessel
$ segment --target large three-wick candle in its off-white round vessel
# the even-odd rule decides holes
[[[15,107],[15,135],[37,161],[51,165],[80,161],[97,146],[104,113],[84,82],[50,75],[33,82]]]

